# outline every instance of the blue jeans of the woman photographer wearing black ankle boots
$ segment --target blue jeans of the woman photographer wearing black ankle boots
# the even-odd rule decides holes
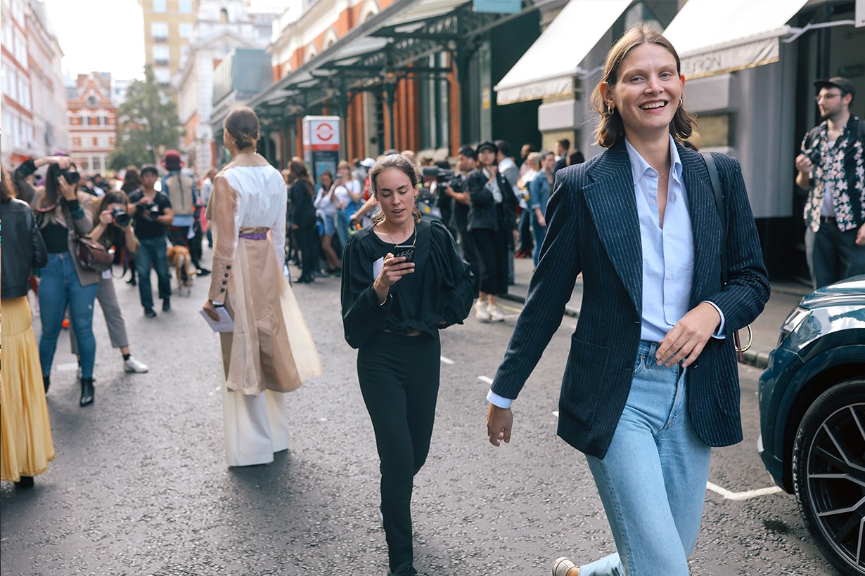
[[[72,257],[68,252],[48,254],[48,265],[42,269],[42,281],[39,282],[39,316],[42,319],[39,361],[42,364],[42,376],[51,374],[57,337],[60,336],[68,305],[72,329],[78,339],[81,377],[93,377],[93,362],[96,360],[93,301],[96,300],[99,283],[81,286]]]

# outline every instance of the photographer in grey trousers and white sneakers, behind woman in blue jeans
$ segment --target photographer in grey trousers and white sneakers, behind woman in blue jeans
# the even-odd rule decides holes
[[[131,255],[138,250],[138,238],[132,231],[131,218],[126,212],[129,199],[123,192],[109,192],[93,205],[93,218],[97,224],[90,232],[97,242],[103,244],[106,249],[122,248]],[[117,293],[114,291],[114,280],[111,269],[107,269],[99,275],[99,288],[96,291],[96,299],[102,307],[102,315],[105,316],[108,326],[108,337],[111,339],[113,348],[119,348],[123,355],[123,370],[126,372],[146,372],[147,365],[136,358],[132,358],[129,349],[129,338],[126,336],[126,325],[123,321],[123,313],[120,312],[120,304],[117,301]],[[78,355],[78,345],[74,338],[74,332],[69,339],[72,353]]]

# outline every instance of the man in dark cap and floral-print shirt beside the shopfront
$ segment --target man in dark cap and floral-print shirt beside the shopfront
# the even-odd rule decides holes
[[[805,256],[814,288],[865,274],[865,123],[850,114],[855,87],[835,76],[814,81],[823,123],[796,157],[805,202]]]

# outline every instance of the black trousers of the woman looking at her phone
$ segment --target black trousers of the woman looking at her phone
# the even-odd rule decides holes
[[[439,334],[380,332],[357,352],[357,377],[375,430],[388,561],[413,561],[412,489],[426,461],[439,396]]]

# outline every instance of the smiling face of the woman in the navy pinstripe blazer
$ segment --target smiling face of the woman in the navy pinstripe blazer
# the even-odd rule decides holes
[[[616,83],[603,85],[604,100],[622,117],[625,134],[645,138],[669,133],[685,84],[676,72],[676,58],[658,44],[631,49],[618,67]]]

